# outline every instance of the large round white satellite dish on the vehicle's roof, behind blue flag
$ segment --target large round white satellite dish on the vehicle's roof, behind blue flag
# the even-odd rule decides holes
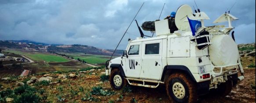
[[[189,5],[181,5],[175,15],[175,25],[179,30],[186,30],[189,27],[187,17],[190,17],[193,11]]]

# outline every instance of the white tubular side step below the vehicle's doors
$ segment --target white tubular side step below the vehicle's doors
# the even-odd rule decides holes
[[[135,86],[144,86],[144,87],[148,87],[148,88],[157,88],[159,86],[160,83],[164,84],[164,82],[161,81],[156,81],[156,80],[147,80],[147,79],[137,79],[137,78],[126,78],[126,80],[128,81],[128,83],[130,85],[135,85]],[[138,83],[130,83],[129,80],[134,80],[134,81],[141,81],[143,82],[143,84],[138,84]],[[158,83],[157,85],[145,85],[145,82],[154,82],[154,83]]]

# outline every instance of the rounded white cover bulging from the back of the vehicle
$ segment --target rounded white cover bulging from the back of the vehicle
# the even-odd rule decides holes
[[[228,35],[215,35],[209,46],[210,59],[214,66],[227,66],[237,64],[238,47]]]

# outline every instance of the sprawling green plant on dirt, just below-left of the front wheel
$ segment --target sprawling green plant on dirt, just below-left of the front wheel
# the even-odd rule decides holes
[[[103,90],[101,86],[94,86],[92,88],[92,91],[91,93],[93,95],[100,95],[100,96],[110,96],[110,95],[113,95],[115,94],[115,92],[112,92],[112,91],[108,91],[108,90]]]

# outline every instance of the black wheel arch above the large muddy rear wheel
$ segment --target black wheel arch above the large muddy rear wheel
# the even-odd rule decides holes
[[[191,71],[184,65],[166,65],[162,72],[161,81],[166,82],[166,79],[169,78],[169,75],[175,72],[181,72],[188,75],[191,78],[192,82],[196,82]]]

